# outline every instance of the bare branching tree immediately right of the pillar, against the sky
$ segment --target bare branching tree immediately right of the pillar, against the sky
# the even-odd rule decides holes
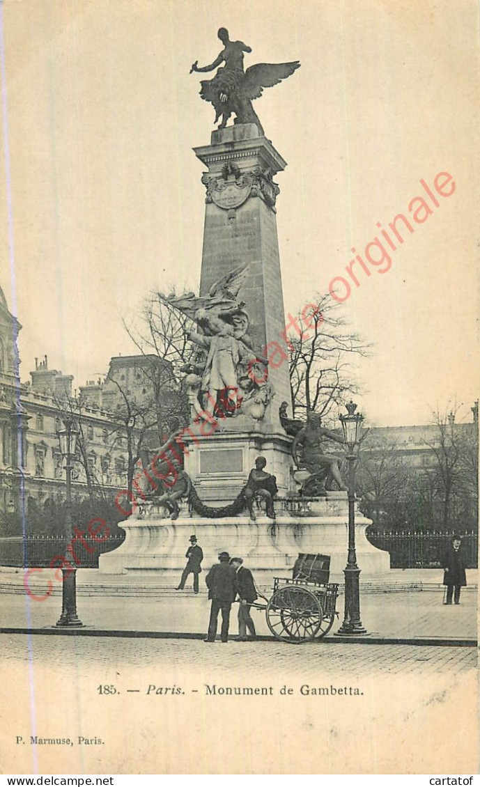
[[[342,305],[330,295],[316,296],[299,312],[296,324],[287,339],[294,416],[307,410],[328,416],[358,393],[353,364],[356,356],[369,354],[371,345],[349,330]]]

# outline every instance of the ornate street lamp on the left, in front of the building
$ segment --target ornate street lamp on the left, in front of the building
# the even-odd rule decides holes
[[[79,430],[72,418],[65,418],[64,428],[59,429],[58,441],[60,442],[61,455],[66,460],[66,505],[65,505],[65,552],[64,559],[67,560],[67,548],[72,543],[72,458],[76,451],[76,439]],[[61,616],[57,621],[57,626],[83,626],[82,621],[76,614],[76,566],[73,559],[68,567],[62,567],[62,590],[61,590]]]

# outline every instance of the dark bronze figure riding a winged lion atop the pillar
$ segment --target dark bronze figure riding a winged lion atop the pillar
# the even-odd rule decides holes
[[[257,63],[244,71],[243,55],[251,52],[250,46],[242,41],[231,41],[226,28],[220,28],[218,37],[223,43],[223,50],[210,65],[198,66],[198,61],[190,68],[192,72],[208,72],[218,68],[213,79],[201,82],[200,95],[205,101],[213,104],[216,112],[215,123],[222,118],[219,128],[227,125],[232,113],[236,115],[234,123],[254,123],[260,135],[264,129],[252,101],[260,98],[264,87],[273,87],[282,79],[291,76],[299,68],[298,61],[291,63]],[[222,65],[223,64],[223,65]]]

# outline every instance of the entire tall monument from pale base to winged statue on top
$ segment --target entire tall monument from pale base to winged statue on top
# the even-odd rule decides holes
[[[340,577],[348,504],[338,457],[324,454],[321,443],[326,437],[342,441],[314,414],[305,424],[287,416],[275,183],[286,161],[265,137],[252,105],[300,63],[245,69],[249,46],[231,41],[224,28],[218,35],[223,50],[216,60],[203,67],[195,62],[190,70],[217,69],[201,81],[200,94],[220,120],[210,144],[194,148],[206,168],[200,290],[168,299],[190,323],[192,353],[183,370],[190,419],[164,445],[144,452],[137,482],[142,495],[120,526],[124,544],[102,555],[100,569],[159,571],[173,584],[194,533],[205,565],[222,551],[242,555],[260,582],[289,570],[299,552],[330,555],[330,573]],[[362,569],[386,571],[388,553],[368,543],[368,523],[358,512]]]

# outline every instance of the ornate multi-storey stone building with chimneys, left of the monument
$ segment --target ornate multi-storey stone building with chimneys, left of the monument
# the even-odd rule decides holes
[[[73,397],[73,376],[50,368],[46,356],[35,359],[31,379],[21,382],[20,328],[0,289],[0,513],[20,513],[22,499],[27,512],[65,499],[65,460],[57,431],[68,414],[66,401],[79,420],[83,449],[77,447],[73,462],[72,494],[87,497],[90,485],[113,494],[123,489],[127,437],[122,391],[129,401],[151,399],[149,376],[142,370],[153,361],[113,358],[105,381],[88,382]]]

